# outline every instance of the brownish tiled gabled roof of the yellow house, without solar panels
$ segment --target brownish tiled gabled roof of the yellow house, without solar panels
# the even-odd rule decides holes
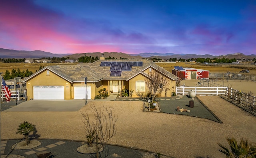
[[[120,75],[113,76],[110,75],[110,66],[100,66],[101,62],[142,62],[140,66],[132,66],[130,71],[119,71]],[[178,80],[178,77],[174,74],[168,72],[164,68],[154,64],[150,60],[141,59],[141,60],[97,60],[92,64],[77,64],[77,65],[56,65],[56,66],[47,66],[40,71],[36,72],[32,76],[28,77],[25,81],[30,80],[37,74],[48,69],[54,74],[68,80],[69,82],[83,82],[84,78],[87,77],[87,82],[98,82],[100,80],[130,80],[138,74],[147,76],[145,71],[148,68],[153,68],[158,70],[164,76],[172,79]]]

